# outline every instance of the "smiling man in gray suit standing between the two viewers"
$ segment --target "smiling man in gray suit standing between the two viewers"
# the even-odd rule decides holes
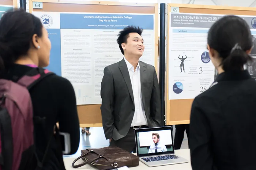
[[[136,128],[159,127],[160,94],[155,67],[139,61],[144,51],[142,29],[128,26],[117,43],[124,58],[105,67],[101,82],[101,115],[110,146],[136,152]]]

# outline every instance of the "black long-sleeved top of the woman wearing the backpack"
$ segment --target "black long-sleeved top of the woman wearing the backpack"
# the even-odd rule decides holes
[[[17,81],[31,69],[33,68],[25,65],[14,65],[8,69],[5,78]],[[39,159],[42,160],[50,135],[53,135],[53,127],[58,121],[60,132],[70,134],[70,154],[75,154],[79,147],[80,132],[76,97],[71,83],[63,77],[50,75],[31,88],[30,96],[34,116],[46,117],[46,130],[40,126],[34,126],[35,146]],[[57,149],[58,145],[56,139],[52,138],[44,169],[63,169],[61,168],[63,167],[63,155],[61,150]]]

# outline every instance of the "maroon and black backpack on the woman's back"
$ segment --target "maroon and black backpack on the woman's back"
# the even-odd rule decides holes
[[[37,158],[37,168],[42,168],[50,141],[44,158],[39,161],[35,154],[35,117],[29,90],[52,74],[54,73],[37,67],[17,82],[0,79],[0,170],[22,169],[20,163],[25,165],[34,156]]]

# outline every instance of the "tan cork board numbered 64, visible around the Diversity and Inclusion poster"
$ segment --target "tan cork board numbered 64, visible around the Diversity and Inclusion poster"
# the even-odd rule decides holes
[[[42,3],[42,9],[33,8],[33,2]],[[154,65],[157,67],[158,53],[158,4],[117,3],[108,1],[59,1],[30,0],[30,13],[33,12],[69,12],[69,13],[129,13],[154,14]],[[118,45],[116,44],[118,47]],[[101,127],[101,104],[78,105],[80,127]]]

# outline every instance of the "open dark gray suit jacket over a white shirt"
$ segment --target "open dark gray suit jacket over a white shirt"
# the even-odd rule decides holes
[[[161,124],[160,92],[155,67],[140,61],[142,103],[149,127]],[[127,135],[135,111],[132,84],[123,60],[105,67],[101,82],[101,115],[106,139]]]

